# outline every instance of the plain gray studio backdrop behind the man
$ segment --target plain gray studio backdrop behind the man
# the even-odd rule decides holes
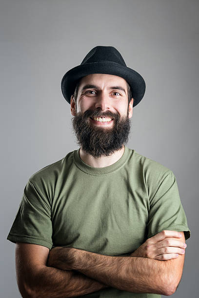
[[[79,148],[61,78],[97,45],[145,79],[127,146],[176,175],[191,238],[173,296],[198,297],[198,15],[197,0],[0,1],[0,297],[20,297],[6,238],[29,177]]]

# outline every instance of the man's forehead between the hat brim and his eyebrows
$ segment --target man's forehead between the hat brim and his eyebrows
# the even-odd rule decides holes
[[[120,85],[127,88],[127,82],[123,77],[118,75],[108,75],[108,74],[91,74],[83,76],[80,80],[80,87],[85,84],[95,84],[98,86],[110,86],[110,85]]]

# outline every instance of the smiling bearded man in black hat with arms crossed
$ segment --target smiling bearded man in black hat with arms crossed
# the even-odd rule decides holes
[[[190,237],[177,181],[125,146],[143,78],[97,46],[61,89],[80,148],[25,186],[7,237],[22,297],[172,295]]]

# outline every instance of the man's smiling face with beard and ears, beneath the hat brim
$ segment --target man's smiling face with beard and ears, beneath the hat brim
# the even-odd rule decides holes
[[[132,113],[127,83],[116,75],[86,75],[80,80],[77,104],[71,96],[78,144],[94,157],[109,156],[127,143]]]

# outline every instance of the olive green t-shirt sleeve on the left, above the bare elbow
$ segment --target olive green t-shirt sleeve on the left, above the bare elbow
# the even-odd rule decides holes
[[[7,236],[11,242],[27,242],[52,248],[51,204],[39,186],[28,180],[14,223]]]

